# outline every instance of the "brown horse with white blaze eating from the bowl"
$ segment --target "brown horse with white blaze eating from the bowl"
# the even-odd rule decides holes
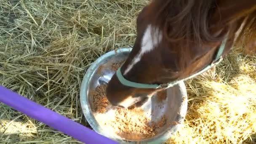
[[[255,27],[256,0],[153,0],[137,18],[134,47],[120,68],[125,85],[113,75],[107,99],[129,107],[167,87],[150,87],[187,78],[227,55],[239,33]],[[253,42],[255,44],[255,41]]]

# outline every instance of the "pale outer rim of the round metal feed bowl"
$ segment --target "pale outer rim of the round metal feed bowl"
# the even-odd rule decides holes
[[[106,136],[106,133],[101,133],[102,131],[104,131],[101,127],[99,127],[95,117],[93,116],[92,112],[89,110],[90,106],[88,105],[88,101],[87,101],[87,96],[88,96],[88,87],[89,87],[89,82],[91,81],[91,75],[93,75],[93,72],[95,72],[95,69],[97,69],[97,67],[99,67],[99,63],[101,61],[103,61],[104,59],[111,57],[113,55],[115,55],[115,53],[123,53],[123,52],[131,52],[132,48],[117,48],[116,50],[112,50],[109,51],[103,55],[101,55],[98,59],[96,59],[96,61],[94,61],[90,67],[88,67],[88,69],[85,72],[85,75],[83,77],[83,81],[80,87],[80,104],[81,104],[81,108],[83,111],[83,115],[85,117],[85,119],[87,120],[87,122],[89,123],[89,125],[91,126],[91,128],[93,128],[93,130],[96,133],[99,133],[101,135]],[[168,139],[171,138],[171,136],[178,131],[178,129],[180,128],[181,123],[183,123],[184,119],[185,119],[185,115],[187,114],[187,90],[186,90],[186,86],[184,84],[183,81],[179,82],[177,85],[179,85],[180,91],[181,91],[181,99],[183,100],[179,109],[179,115],[180,117],[178,117],[178,121],[180,123],[178,123],[177,125],[171,125],[167,131],[165,133],[163,133],[162,135],[157,136],[155,139],[150,139],[150,140],[142,140],[142,141],[126,141],[123,139],[118,139],[118,138],[114,138],[112,136],[106,136],[109,139],[112,139],[114,141],[118,141],[121,143],[129,143],[129,144],[158,144],[158,143],[162,143],[164,141],[167,141]]]

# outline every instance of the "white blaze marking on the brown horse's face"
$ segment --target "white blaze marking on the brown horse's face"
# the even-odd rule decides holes
[[[154,35],[152,34],[152,30],[154,30]],[[131,64],[128,65],[127,69],[124,72],[124,75],[126,75],[133,68],[133,66],[141,60],[141,57],[144,53],[152,51],[157,46],[157,44],[160,43],[162,38],[162,32],[160,32],[157,27],[152,27],[151,24],[149,24],[144,33],[144,36],[142,37],[141,50],[131,61]]]

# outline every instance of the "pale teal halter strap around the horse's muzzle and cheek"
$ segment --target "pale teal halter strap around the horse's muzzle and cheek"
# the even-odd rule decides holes
[[[185,81],[185,80],[188,80],[192,77],[195,77],[197,75],[200,75],[202,74],[203,72],[207,71],[208,69],[211,69],[211,67],[213,67],[214,65],[216,64],[219,64],[219,62],[221,62],[222,60],[222,53],[225,49],[225,45],[226,45],[226,42],[227,42],[227,39],[225,39],[224,41],[222,41],[221,43],[221,46],[219,48],[219,51],[217,52],[216,54],[216,57],[215,59],[211,62],[211,64],[209,64],[208,66],[206,66],[204,69],[200,70],[199,72],[189,76],[189,77],[186,77],[184,79],[181,79],[181,80],[175,80],[175,81],[172,81],[170,83],[167,83],[167,84],[160,84],[160,85],[157,85],[157,84],[144,84],[144,83],[135,83],[135,82],[132,82],[132,81],[129,81],[129,80],[126,80],[122,73],[121,73],[121,67],[119,67],[119,69],[117,69],[117,78],[118,80],[120,81],[120,83],[122,83],[123,85],[126,85],[126,86],[129,86],[129,87],[133,87],[133,88],[155,88],[155,89],[161,89],[161,88],[169,88],[169,87],[172,87],[174,85],[176,85],[177,83],[179,83],[180,81]]]

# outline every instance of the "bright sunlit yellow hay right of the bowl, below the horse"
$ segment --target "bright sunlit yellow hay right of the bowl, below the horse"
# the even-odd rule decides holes
[[[188,80],[188,114],[171,143],[256,142],[256,57],[241,49],[209,72]],[[254,135],[253,135],[254,133]]]

